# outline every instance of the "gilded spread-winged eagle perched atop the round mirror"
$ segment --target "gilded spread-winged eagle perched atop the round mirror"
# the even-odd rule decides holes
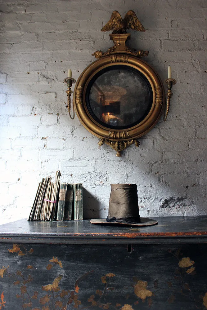
[[[118,11],[113,11],[108,23],[101,29],[101,31],[111,31],[114,33],[127,33],[126,29],[132,29],[136,31],[145,31],[144,27],[137,18],[134,11],[130,10],[122,19]]]

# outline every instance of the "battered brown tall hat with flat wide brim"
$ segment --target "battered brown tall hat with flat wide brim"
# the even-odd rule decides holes
[[[158,222],[139,216],[136,184],[111,184],[109,214],[106,219],[91,219],[92,224],[148,226]]]

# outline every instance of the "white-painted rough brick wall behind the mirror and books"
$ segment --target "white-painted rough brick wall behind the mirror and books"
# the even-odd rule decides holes
[[[39,180],[83,182],[85,217],[106,217],[110,183],[138,185],[141,216],[204,215],[206,208],[206,7],[204,0],[1,0],[0,224],[29,215]],[[113,10],[134,10],[146,28],[131,46],[149,49],[162,80],[172,66],[172,105],[123,157],[66,109],[68,68],[78,78]]]

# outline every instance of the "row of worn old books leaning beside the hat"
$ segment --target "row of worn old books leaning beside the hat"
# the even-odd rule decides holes
[[[39,183],[28,221],[67,221],[83,219],[83,184],[60,183],[61,173]]]

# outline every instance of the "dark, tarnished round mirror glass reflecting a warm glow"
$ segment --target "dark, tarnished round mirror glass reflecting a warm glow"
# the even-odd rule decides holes
[[[91,116],[111,129],[126,129],[140,123],[153,101],[147,78],[126,65],[100,70],[88,84],[86,105]]]

